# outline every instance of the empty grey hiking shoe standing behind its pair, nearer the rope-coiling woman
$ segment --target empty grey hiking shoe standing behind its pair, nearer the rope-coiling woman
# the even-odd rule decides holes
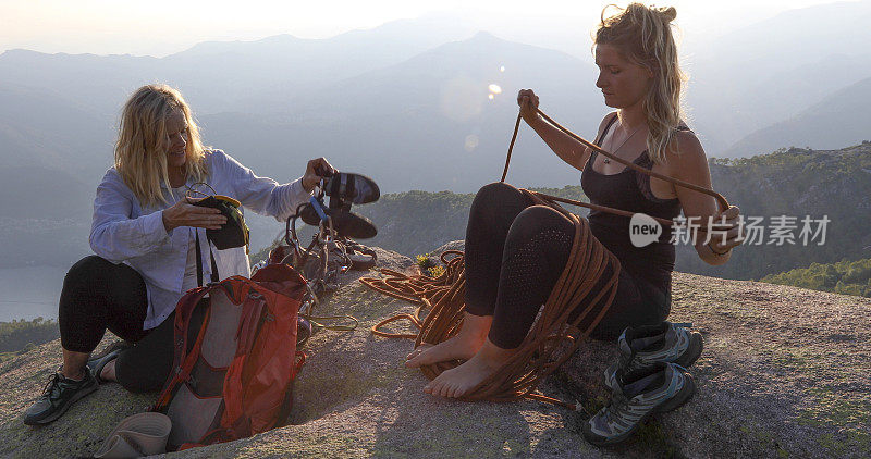
[[[689,368],[704,347],[701,334],[687,328],[692,324],[662,322],[659,325],[629,326],[617,339],[619,359],[605,370],[605,385],[617,370],[629,372],[658,362]]]

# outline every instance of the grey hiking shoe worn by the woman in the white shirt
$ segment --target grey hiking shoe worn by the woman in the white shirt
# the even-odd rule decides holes
[[[82,381],[70,380],[54,373],[42,389],[42,396],[24,413],[27,425],[48,424],[60,418],[79,398],[97,390],[98,384],[90,371],[83,371]]]

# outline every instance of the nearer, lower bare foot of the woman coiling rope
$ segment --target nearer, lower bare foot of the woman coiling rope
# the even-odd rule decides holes
[[[455,369],[442,372],[424,387],[424,392],[441,397],[462,397],[499,370],[516,351],[517,349],[496,347],[487,339],[471,359]]]

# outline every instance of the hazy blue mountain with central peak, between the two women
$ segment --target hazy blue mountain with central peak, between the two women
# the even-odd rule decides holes
[[[200,119],[216,146],[278,176],[324,156],[388,193],[473,191],[499,177],[519,88],[536,88],[544,111],[591,138],[605,113],[592,80],[593,67],[577,58],[480,33],[292,99],[293,112]],[[501,88],[492,100],[490,85]],[[564,185],[578,174],[523,127],[514,183]]]

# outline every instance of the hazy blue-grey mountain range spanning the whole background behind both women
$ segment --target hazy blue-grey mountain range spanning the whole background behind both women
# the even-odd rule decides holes
[[[709,158],[869,139],[869,18],[871,1],[833,3],[686,44],[689,123]],[[203,42],[160,59],[10,50],[0,54],[0,193],[27,199],[4,206],[0,230],[21,256],[38,247],[27,238],[86,240],[120,107],[142,84],[179,87],[207,144],[280,182],[322,156],[383,193],[473,193],[499,177],[520,88],[592,139],[609,111],[597,72],[589,57],[439,16],[328,39]],[[508,181],[562,187],[579,174],[522,126]],[[273,220],[250,223],[263,228],[255,248],[277,231]],[[63,250],[72,257],[75,247]]]

